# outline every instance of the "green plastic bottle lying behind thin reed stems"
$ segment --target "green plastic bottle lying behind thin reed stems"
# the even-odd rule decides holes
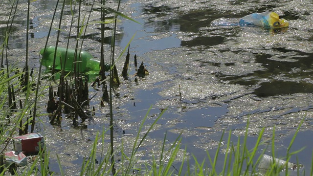
[[[45,53],[44,53],[45,51]],[[53,67],[53,58],[54,58],[54,52],[55,52],[55,46],[48,46],[45,48],[42,48],[40,50],[40,54],[43,56],[41,59],[42,65],[52,69]],[[64,66],[65,62],[65,55],[67,52],[67,60],[66,65]],[[63,47],[58,47],[56,52],[56,60],[55,60],[55,69],[61,70],[61,62],[60,59],[62,59],[62,66],[64,67],[64,70],[66,71],[72,71],[74,70],[74,49],[67,49]],[[80,57],[81,56],[81,57]],[[81,59],[80,59],[81,58]],[[87,51],[81,51],[81,55],[77,53],[77,59],[76,59],[77,65],[79,70],[81,72],[87,72],[87,71],[100,71],[100,62],[95,60],[91,54],[89,54]],[[106,71],[110,70],[110,65],[105,64]]]

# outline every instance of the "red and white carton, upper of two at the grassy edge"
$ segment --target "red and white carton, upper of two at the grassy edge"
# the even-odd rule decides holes
[[[40,133],[29,133],[13,137],[14,150],[24,154],[38,154],[44,150],[45,139]]]

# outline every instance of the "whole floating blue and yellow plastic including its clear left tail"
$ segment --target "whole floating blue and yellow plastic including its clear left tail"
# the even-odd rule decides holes
[[[212,22],[213,25],[222,26],[260,26],[264,29],[277,29],[289,26],[289,22],[285,19],[279,19],[279,15],[275,12],[252,13],[239,20],[233,22],[234,19],[220,19]]]

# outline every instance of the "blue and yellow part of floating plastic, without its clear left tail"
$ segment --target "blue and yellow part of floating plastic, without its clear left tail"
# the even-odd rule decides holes
[[[252,13],[240,19],[240,26],[261,26],[264,29],[288,27],[289,22],[279,19],[275,12]]]

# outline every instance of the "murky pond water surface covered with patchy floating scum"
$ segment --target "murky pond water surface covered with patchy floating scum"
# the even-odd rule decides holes
[[[37,0],[31,4],[30,66],[38,68],[38,52],[45,44],[56,0]],[[71,19],[68,4],[61,27],[60,44],[64,46]],[[91,0],[85,0],[83,4],[82,10],[89,11]],[[107,5],[116,7],[114,2]],[[0,2],[1,35],[5,31],[9,7],[6,0]],[[19,8],[8,52],[9,64],[22,65],[26,3],[21,2]],[[265,128],[265,141],[271,137],[275,127],[276,155],[283,157],[291,136],[304,120],[292,149],[306,147],[297,159],[310,169],[312,158],[307,156],[311,156],[313,146],[310,140],[313,130],[312,9],[311,0],[123,1],[120,11],[141,24],[126,20],[119,23],[116,55],[135,34],[131,58],[136,54],[138,62],[144,62],[150,75],[137,83],[134,79],[124,81],[117,90],[119,96],[115,96],[113,105],[116,146],[124,140],[124,150],[131,151],[138,126],[150,106],[152,110],[144,130],[161,110],[167,109],[140,151],[142,160],[159,154],[167,131],[169,143],[182,132],[182,146],[187,146],[187,154],[194,154],[198,161],[202,161],[206,150],[212,154],[216,150],[223,130],[226,133],[232,130],[232,142],[236,143],[237,138],[244,135],[248,119],[248,140],[251,141],[248,147],[253,147],[262,128]],[[215,20],[234,20],[263,11],[275,11],[290,22],[290,27],[271,31],[257,27],[211,25]],[[99,17],[98,7],[94,7],[90,21],[97,21]],[[57,26],[58,21],[53,27]],[[100,56],[98,27],[98,24],[89,26],[83,45],[96,58]],[[72,31],[70,39],[72,47],[75,32]],[[52,30],[49,44],[55,44],[56,33]],[[111,31],[107,30],[106,35],[109,51]],[[123,59],[117,61],[120,71],[123,62]],[[134,73],[132,61],[130,74]],[[102,94],[93,90],[90,96],[95,93]],[[52,169],[56,172],[57,164],[53,164],[56,153],[60,153],[67,174],[75,174],[83,157],[89,154],[96,132],[102,131],[103,127],[108,128],[109,110],[100,107],[100,99],[101,96],[96,96],[91,102],[98,113],[84,130],[73,129],[66,118],[61,127],[53,127],[48,124],[47,116],[41,117],[45,123],[37,128],[46,136]],[[46,103],[45,99],[41,101]],[[108,142],[99,141],[99,145],[108,145]],[[169,146],[166,144],[167,148]],[[267,154],[269,152],[266,151]],[[223,156],[223,152],[221,154]],[[296,162],[296,156],[291,158],[291,162]]]

